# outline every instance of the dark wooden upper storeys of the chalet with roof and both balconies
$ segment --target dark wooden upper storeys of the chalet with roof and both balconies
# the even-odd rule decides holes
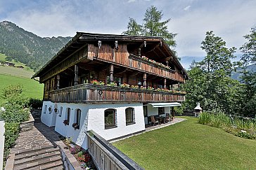
[[[87,103],[184,101],[184,94],[106,84],[173,90],[188,75],[160,37],[77,33],[34,77],[44,83],[44,100]]]

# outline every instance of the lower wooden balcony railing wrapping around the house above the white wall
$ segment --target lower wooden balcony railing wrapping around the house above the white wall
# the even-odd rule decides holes
[[[53,102],[65,103],[185,101],[185,94],[91,84],[75,85],[60,90],[53,90],[50,92],[49,97]]]

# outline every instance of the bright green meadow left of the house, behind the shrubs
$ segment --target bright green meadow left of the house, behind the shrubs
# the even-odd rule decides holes
[[[0,66],[1,67],[1,66]],[[31,78],[22,78],[18,76],[10,76],[4,75],[0,73],[0,94],[4,87],[8,85],[23,85],[23,92],[26,97],[34,98],[34,99],[42,99],[44,92],[44,85],[39,84],[36,80],[32,80]],[[0,99],[0,105],[2,104],[2,100]]]

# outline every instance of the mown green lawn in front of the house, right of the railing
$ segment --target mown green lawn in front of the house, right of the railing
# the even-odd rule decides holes
[[[256,141],[198,118],[113,143],[145,169],[256,169]]]

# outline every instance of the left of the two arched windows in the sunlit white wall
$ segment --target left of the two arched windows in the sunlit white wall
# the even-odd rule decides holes
[[[105,129],[117,127],[116,115],[117,115],[116,110],[113,108],[110,108],[104,111]]]

